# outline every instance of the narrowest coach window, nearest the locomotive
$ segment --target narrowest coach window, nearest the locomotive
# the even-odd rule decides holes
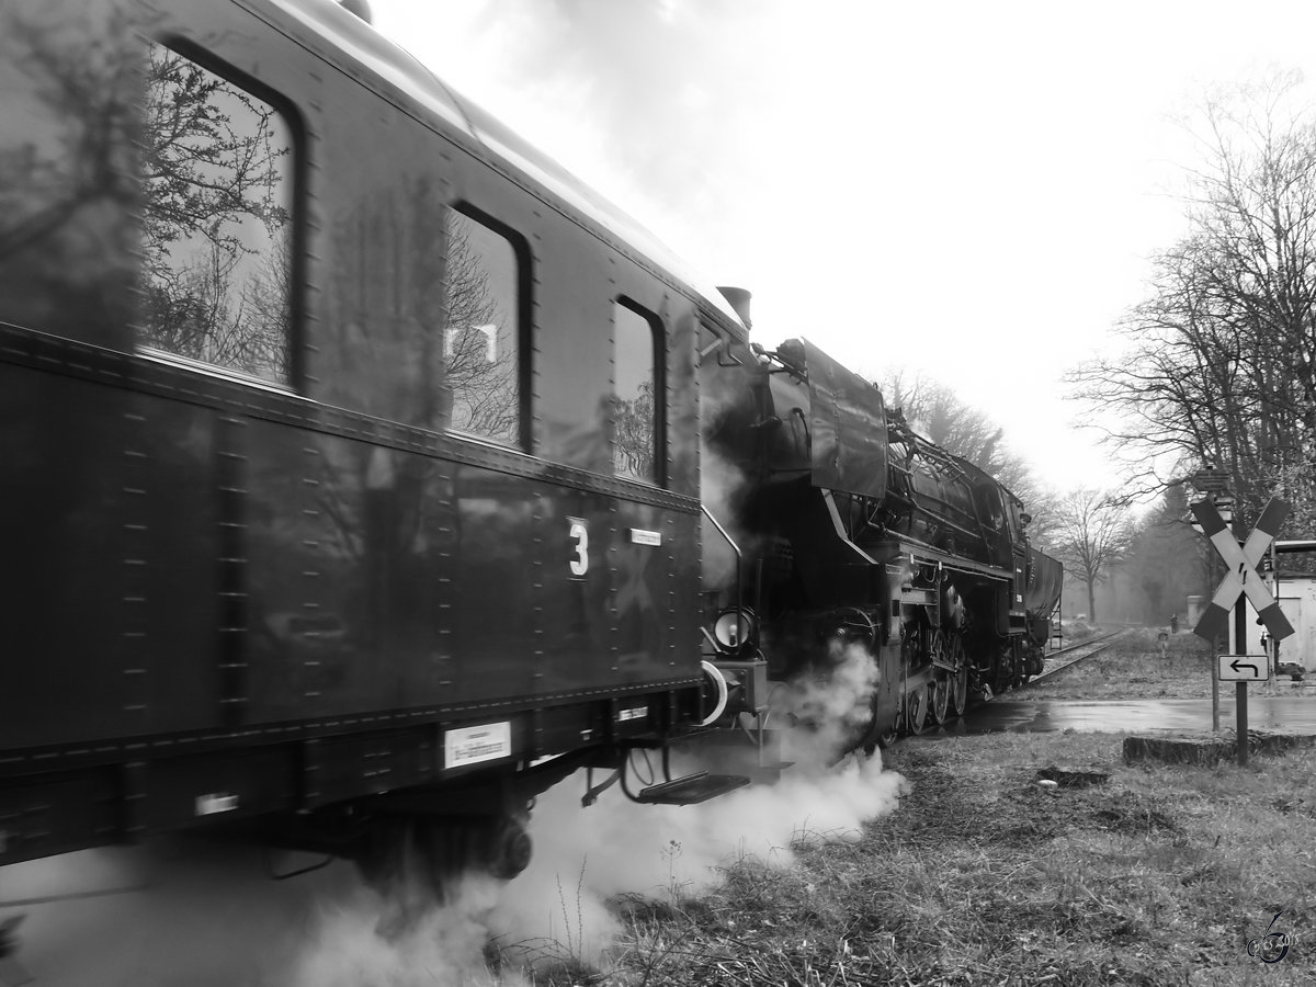
[[[612,466],[619,476],[658,483],[662,321],[634,303],[612,307]]]

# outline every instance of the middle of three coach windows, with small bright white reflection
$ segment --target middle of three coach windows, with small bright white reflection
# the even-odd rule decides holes
[[[455,209],[447,213],[445,384],[451,426],[519,445],[520,266],[512,242]]]

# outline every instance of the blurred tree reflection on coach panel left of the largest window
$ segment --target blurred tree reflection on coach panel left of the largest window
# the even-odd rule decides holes
[[[125,347],[136,232],[137,24],[0,4],[0,317]]]

